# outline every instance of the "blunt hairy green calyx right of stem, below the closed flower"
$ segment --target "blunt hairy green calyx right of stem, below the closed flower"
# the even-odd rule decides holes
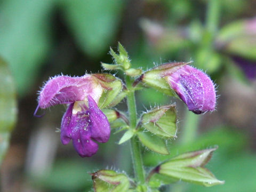
[[[142,127],[160,137],[176,138],[177,116],[175,106],[155,107],[141,116]]]

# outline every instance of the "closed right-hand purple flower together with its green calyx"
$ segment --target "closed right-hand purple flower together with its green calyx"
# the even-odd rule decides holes
[[[213,111],[216,103],[213,82],[201,70],[187,64],[185,62],[165,63],[147,71],[140,78],[142,82],[159,91],[167,90],[167,82],[169,90],[177,93],[179,98],[186,103],[188,109],[195,114]],[[170,94],[173,94],[171,91]]]

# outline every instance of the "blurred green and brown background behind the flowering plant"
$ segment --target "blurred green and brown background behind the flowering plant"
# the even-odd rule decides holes
[[[207,167],[225,185],[178,182],[161,191],[256,191],[255,9],[254,0],[0,1],[1,191],[90,191],[89,172],[108,167],[133,174],[129,143],[117,145],[122,134],[81,158],[55,132],[65,107],[33,117],[49,76],[101,72],[100,61],[111,63],[109,47],[117,42],[134,67],[193,60],[217,84],[217,111],[201,116],[154,90],[137,93],[138,111],[177,104],[170,156],[219,146]],[[124,104],[118,107],[126,110]],[[148,167],[170,157],[143,153]]]

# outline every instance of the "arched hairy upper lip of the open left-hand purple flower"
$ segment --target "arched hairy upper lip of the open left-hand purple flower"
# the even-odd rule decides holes
[[[102,87],[91,75],[82,77],[57,76],[51,78],[39,94],[39,107],[82,101],[91,95],[98,102]]]

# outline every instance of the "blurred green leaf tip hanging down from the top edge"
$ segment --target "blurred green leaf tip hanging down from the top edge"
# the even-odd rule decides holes
[[[116,34],[124,1],[59,0],[77,44],[91,57],[105,53]]]

